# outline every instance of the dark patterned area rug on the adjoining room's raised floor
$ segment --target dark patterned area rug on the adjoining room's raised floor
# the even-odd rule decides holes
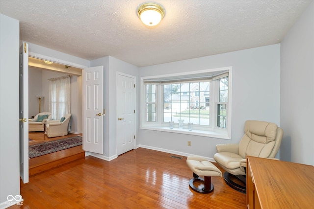
[[[28,146],[28,157],[35,158],[82,144],[82,137],[75,136]]]

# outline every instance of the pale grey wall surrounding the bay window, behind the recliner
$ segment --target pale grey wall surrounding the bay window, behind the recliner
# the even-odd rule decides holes
[[[212,158],[216,144],[237,143],[246,120],[264,120],[280,125],[280,44],[140,68],[140,77],[233,68],[232,139],[215,139],[140,129],[140,146],[171,150],[182,155]],[[187,146],[187,141],[192,146]]]

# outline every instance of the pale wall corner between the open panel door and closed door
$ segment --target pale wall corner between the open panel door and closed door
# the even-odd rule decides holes
[[[116,139],[116,107],[117,107],[117,72],[126,73],[138,78],[138,67],[133,66],[114,57],[104,57],[91,61],[91,66],[104,66],[104,105],[106,110],[105,128],[104,128],[104,155],[95,155],[106,160],[117,156],[117,139]],[[136,79],[138,82],[138,79]],[[137,85],[137,84],[136,84]],[[137,89],[137,98],[139,98],[139,88]],[[138,101],[137,101],[138,102]],[[138,107],[137,107],[138,108]],[[137,127],[139,115],[136,115]]]

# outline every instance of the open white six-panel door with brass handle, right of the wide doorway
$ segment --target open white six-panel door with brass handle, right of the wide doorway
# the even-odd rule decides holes
[[[104,154],[104,66],[83,69],[83,150]]]

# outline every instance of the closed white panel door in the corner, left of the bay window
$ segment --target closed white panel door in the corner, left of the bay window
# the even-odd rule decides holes
[[[135,147],[135,78],[117,75],[117,152]]]

